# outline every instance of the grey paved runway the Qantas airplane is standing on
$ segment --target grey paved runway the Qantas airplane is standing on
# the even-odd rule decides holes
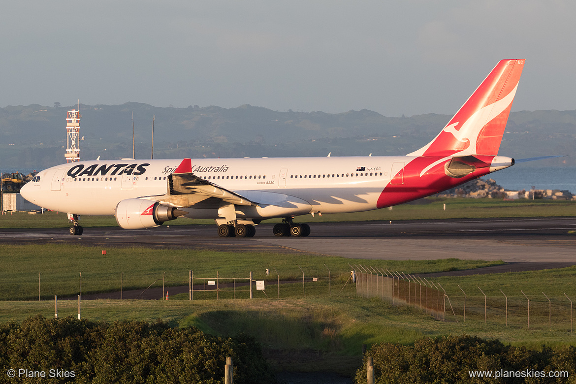
[[[2,229],[0,243],[147,246],[224,252],[315,253],[378,260],[503,260],[576,264],[576,218],[411,220],[309,223],[309,237],[275,237],[272,225],[253,238],[220,238],[215,226],[162,226],[147,230],[85,227]]]

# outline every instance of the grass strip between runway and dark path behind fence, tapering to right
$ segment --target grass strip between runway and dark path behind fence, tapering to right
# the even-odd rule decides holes
[[[410,273],[450,271],[501,264],[501,261],[457,259],[427,261],[349,260],[318,254],[235,253],[192,249],[106,248],[81,245],[3,245],[0,261],[0,297],[5,300],[28,300],[78,294],[82,273],[82,294],[120,291],[123,273],[124,290],[146,288],[165,276],[166,286],[188,284],[189,271],[195,277],[248,278],[276,281],[301,281],[305,277],[342,276],[346,281],[350,264],[401,270]],[[266,268],[270,276],[266,276]],[[164,275],[165,274],[165,275]],[[325,279],[324,279],[325,280]],[[198,280],[197,280],[198,282]],[[155,287],[162,285],[162,280]]]

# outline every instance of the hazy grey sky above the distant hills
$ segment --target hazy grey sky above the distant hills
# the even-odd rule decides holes
[[[522,58],[513,111],[576,109],[574,15],[570,0],[3,2],[0,107],[451,114]]]

